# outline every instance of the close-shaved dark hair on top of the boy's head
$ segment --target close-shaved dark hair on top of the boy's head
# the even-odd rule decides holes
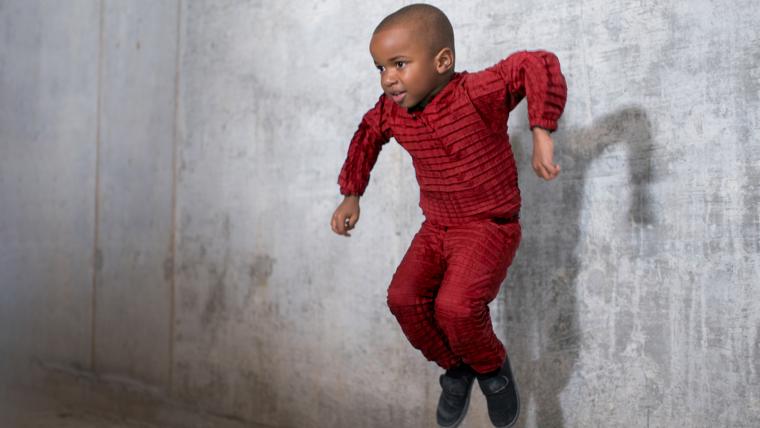
[[[446,14],[435,6],[422,3],[404,6],[380,21],[373,34],[396,26],[412,30],[433,55],[443,48],[454,52],[454,29]]]

